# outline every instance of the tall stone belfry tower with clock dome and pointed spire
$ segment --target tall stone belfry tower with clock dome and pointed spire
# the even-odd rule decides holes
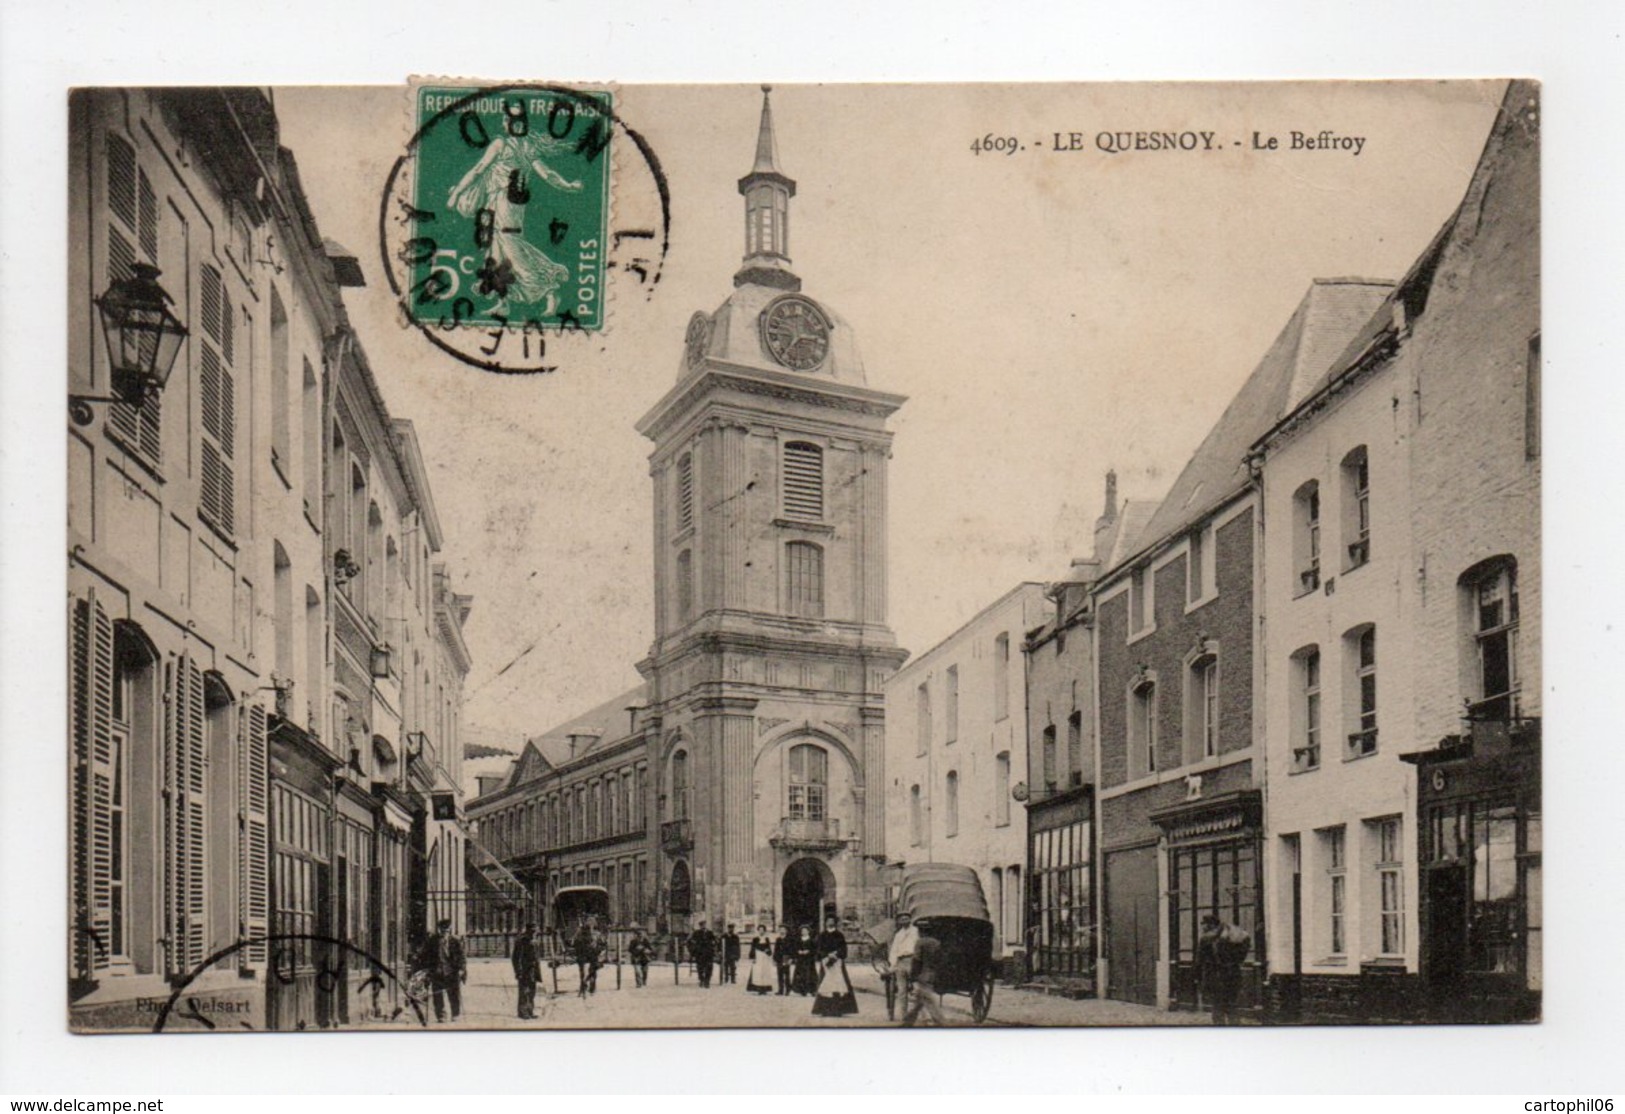
[[[884,900],[886,419],[852,328],[790,270],[762,89],[734,291],[689,322],[655,443],[648,682],[661,911],[863,921]]]

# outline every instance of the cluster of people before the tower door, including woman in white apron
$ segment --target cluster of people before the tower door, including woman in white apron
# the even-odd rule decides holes
[[[759,924],[751,937],[749,953],[744,952],[736,926],[730,924],[718,935],[700,924],[689,934],[687,952],[702,987],[712,984],[718,960],[722,982],[738,982],[739,960],[748,958],[744,989],[751,994],[812,995],[812,1013],[817,1017],[858,1012],[858,997],[847,974],[847,935],[835,918],[829,918],[817,935],[809,924],[803,924],[795,934],[783,924],[769,934],[767,926]]]

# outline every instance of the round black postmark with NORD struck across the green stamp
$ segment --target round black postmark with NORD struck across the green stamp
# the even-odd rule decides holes
[[[671,192],[613,91],[421,84],[413,110],[379,211],[406,326],[488,372],[552,372],[621,294],[653,296]]]

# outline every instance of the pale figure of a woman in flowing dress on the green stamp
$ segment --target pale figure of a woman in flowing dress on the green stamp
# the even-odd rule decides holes
[[[525,239],[526,177],[535,175],[556,190],[577,193],[580,182],[570,182],[554,171],[546,158],[564,149],[551,136],[536,133],[499,135],[486,146],[484,156],[452,187],[445,203],[462,216],[473,218],[491,209],[491,258],[512,268],[512,281],[497,292],[492,312],[507,313],[507,304],[541,302],[543,317],[557,310],[557,289],[570,276],[562,263]]]

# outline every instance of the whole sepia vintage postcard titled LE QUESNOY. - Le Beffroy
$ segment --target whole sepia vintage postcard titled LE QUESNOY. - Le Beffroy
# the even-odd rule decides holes
[[[70,1028],[1532,1021],[1539,88],[84,88]]]

